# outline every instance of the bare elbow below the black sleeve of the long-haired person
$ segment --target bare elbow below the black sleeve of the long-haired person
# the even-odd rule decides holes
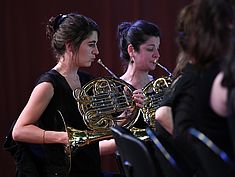
[[[165,128],[170,134],[173,133],[173,117],[171,107],[162,106],[155,112],[155,119]]]

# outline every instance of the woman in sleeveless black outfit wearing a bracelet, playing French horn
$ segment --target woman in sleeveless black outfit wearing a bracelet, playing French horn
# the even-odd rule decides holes
[[[17,176],[101,177],[98,142],[74,149],[69,167],[64,151],[69,137],[58,118],[60,111],[67,125],[87,129],[73,90],[92,79],[80,67],[90,67],[99,54],[98,26],[80,14],[58,15],[50,18],[47,35],[58,61],[40,76],[13,128],[12,137],[21,147],[16,157]],[[133,92],[133,99],[142,106],[143,95],[138,90]]]

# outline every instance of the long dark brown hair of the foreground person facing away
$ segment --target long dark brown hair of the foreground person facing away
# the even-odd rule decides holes
[[[223,58],[230,48],[234,20],[232,0],[195,0],[188,53],[199,66]]]

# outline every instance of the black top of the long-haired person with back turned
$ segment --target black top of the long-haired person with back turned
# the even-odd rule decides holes
[[[182,137],[187,134],[188,128],[195,127],[232,157],[227,120],[217,115],[210,106],[211,87],[220,71],[220,62],[214,61],[203,70],[191,67],[190,71],[188,68],[184,71],[185,77],[191,77],[191,84],[173,105],[174,135]]]

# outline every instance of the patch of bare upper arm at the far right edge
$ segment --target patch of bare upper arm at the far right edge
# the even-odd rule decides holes
[[[219,73],[212,85],[210,104],[212,109],[220,116],[226,117],[227,89],[221,85],[223,73]]]

